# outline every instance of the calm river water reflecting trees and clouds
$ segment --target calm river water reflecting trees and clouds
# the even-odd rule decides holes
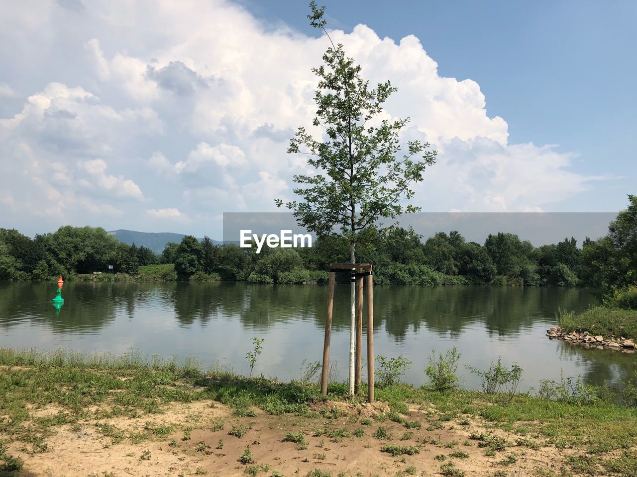
[[[255,373],[298,377],[303,360],[322,357],[327,287],[224,282],[66,282],[56,315],[55,284],[0,282],[0,346],[196,356],[248,369],[250,338],[265,338]],[[519,287],[374,289],[376,355],[413,361],[405,379],[423,384],[431,349],[457,346],[466,387],[478,382],[464,365],[485,368],[498,356],[524,368],[523,389],[538,380],[583,375],[616,384],[636,369],[635,355],[583,349],[545,338],[559,307],[596,303],[588,291]],[[347,378],[349,286],[337,285],[331,359]],[[366,333],[366,331],[364,331]],[[364,335],[365,336],[365,335]],[[365,373],[363,373],[365,374]]]

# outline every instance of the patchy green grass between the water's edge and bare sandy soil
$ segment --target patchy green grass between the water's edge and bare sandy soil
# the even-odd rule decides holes
[[[328,403],[340,401],[347,394],[347,385],[340,383],[330,384],[328,396],[324,397],[316,384],[281,383],[266,377],[248,379],[218,368],[204,369],[193,359],[176,361],[132,352],[113,356],[64,350],[43,353],[31,349],[0,349],[0,366],[3,366],[0,368],[0,415],[6,417],[0,420],[3,443],[20,441],[36,452],[57,427],[78,425],[85,419],[95,420],[96,431],[108,438],[111,445],[166,437],[175,429],[150,424],[150,419],[143,432],[138,433],[122,431],[104,421],[111,417],[150,417],[161,413],[170,403],[211,399],[233,409],[254,406],[272,415],[293,413],[303,417],[317,414],[310,410],[310,404],[326,399]],[[378,387],[376,398],[387,403],[409,404],[411,408],[433,409],[429,419],[436,423],[457,415],[483,418],[494,431],[502,429],[515,434],[517,429],[518,435],[533,438],[517,439],[518,446],[575,448],[594,457],[606,474],[637,474],[637,456],[631,451],[637,446],[637,411],[633,408],[601,399],[571,403],[527,394],[517,394],[510,402],[503,403],[497,396],[476,391],[440,393],[407,384]],[[47,417],[31,417],[33,411],[45,406],[59,408],[59,412]],[[326,411],[329,419],[336,414],[336,411]],[[388,415],[383,417],[375,415],[375,420],[389,419]],[[361,419],[361,424],[372,424],[367,419]],[[329,422],[336,424],[333,420]],[[374,437],[389,439],[389,427],[376,425],[379,427]],[[404,426],[408,428],[405,430],[417,429],[417,425],[410,422]],[[223,423],[213,422],[211,427],[221,430]],[[235,424],[229,434],[243,437],[247,430],[245,425]],[[318,429],[318,436],[333,439],[348,438],[351,434],[347,427],[324,425]],[[180,437],[177,436],[175,446],[180,445]],[[494,454],[515,445],[499,438],[497,432],[475,434],[471,438],[476,445]],[[575,464],[575,461],[569,463]],[[6,448],[3,450],[0,446],[0,466],[4,466],[0,468],[18,465],[19,459],[8,455]]]

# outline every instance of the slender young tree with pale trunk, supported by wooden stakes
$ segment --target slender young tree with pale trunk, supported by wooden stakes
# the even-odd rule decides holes
[[[322,29],[327,37],[325,7],[310,2],[310,25]],[[329,38],[330,42],[331,38]],[[389,81],[370,88],[361,76],[361,66],[346,57],[343,45],[334,46],[323,55],[324,64],[312,71],[318,76],[314,100],[317,113],[313,126],[325,133],[316,139],[299,127],[290,140],[288,153],[308,155],[315,174],[294,176],[299,187],[294,193],[300,201],[285,205],[294,212],[299,225],[318,237],[341,233],[347,237],[350,261],[356,261],[356,245],[365,240],[371,228],[382,230],[381,218],[396,218],[403,212],[419,208],[401,205],[413,197],[411,184],[422,181],[427,165],[432,165],[436,151],[421,141],[407,141],[406,154],[401,151],[401,131],[409,118],[380,119],[383,103],[396,88]],[[350,394],[354,392],[354,316],[355,284],[351,291]]]

